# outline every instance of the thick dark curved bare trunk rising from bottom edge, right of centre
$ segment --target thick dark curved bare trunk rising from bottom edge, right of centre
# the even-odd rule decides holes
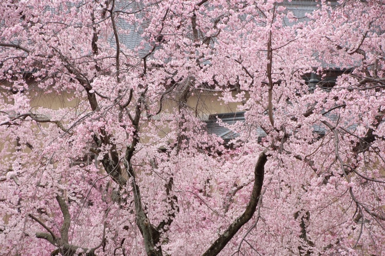
[[[232,224],[230,224],[230,226],[226,229],[226,231],[224,231],[219,236],[219,238],[202,254],[202,256],[217,255],[226,246],[226,244],[235,236],[238,230],[253,217],[254,212],[256,211],[256,208],[258,205],[259,196],[261,195],[263,177],[264,177],[264,171],[265,171],[264,166],[266,161],[267,161],[267,155],[264,152],[262,152],[259,155],[257,164],[255,165],[255,169],[254,169],[254,184],[253,184],[252,195],[250,197],[250,200],[243,214],[237,219],[235,219]]]

